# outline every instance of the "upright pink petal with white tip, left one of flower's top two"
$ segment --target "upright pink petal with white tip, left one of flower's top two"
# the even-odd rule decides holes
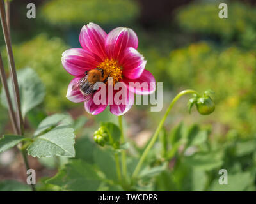
[[[92,52],[104,61],[106,36],[106,32],[99,25],[89,23],[81,29],[79,40],[84,50]]]

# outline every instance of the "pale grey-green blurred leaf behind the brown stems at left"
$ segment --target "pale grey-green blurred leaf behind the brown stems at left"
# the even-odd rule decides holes
[[[45,87],[38,75],[31,68],[24,68],[17,71],[17,78],[19,82],[21,112],[22,116],[25,117],[29,110],[42,103],[45,96]],[[9,90],[13,90],[12,80],[10,78],[8,78],[8,87]],[[10,95],[15,109],[13,91],[10,92]],[[3,88],[1,91],[1,103],[4,107],[8,108]]]

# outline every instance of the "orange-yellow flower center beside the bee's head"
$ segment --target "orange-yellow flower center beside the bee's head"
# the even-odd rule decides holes
[[[113,77],[114,84],[122,79],[123,68],[113,59],[106,59],[104,62],[100,63],[98,68],[104,70],[104,75],[106,77]]]

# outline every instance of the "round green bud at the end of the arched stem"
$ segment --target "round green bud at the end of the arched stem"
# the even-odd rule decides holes
[[[210,96],[203,96],[197,99],[196,108],[202,115],[209,115],[215,110],[215,104]]]

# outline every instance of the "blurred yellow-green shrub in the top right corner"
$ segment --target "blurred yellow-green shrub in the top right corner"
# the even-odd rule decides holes
[[[216,35],[224,41],[237,40],[246,48],[255,48],[256,41],[256,9],[236,2],[227,3],[228,18],[221,19],[221,9],[214,3],[189,4],[181,8],[177,21],[182,29],[193,33]]]

